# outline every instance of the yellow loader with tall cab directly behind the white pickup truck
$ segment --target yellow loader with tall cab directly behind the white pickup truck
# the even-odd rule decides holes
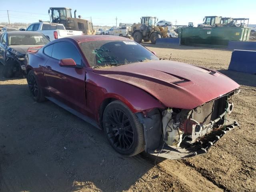
[[[63,24],[66,30],[82,31],[85,35],[95,33],[90,20],[82,19],[81,16],[76,18],[76,10],[74,11],[74,18],[72,17],[71,9],[65,7],[50,7],[48,14],[52,23]]]

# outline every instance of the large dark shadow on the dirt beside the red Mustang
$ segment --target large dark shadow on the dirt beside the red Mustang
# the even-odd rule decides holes
[[[0,84],[0,191],[128,190],[154,165],[116,153],[102,131],[24,84]],[[161,159],[159,159],[161,160]]]

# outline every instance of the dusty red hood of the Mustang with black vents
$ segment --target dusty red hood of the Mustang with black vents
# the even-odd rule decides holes
[[[138,62],[94,72],[141,88],[166,107],[183,109],[193,109],[239,87],[217,71],[168,60]]]

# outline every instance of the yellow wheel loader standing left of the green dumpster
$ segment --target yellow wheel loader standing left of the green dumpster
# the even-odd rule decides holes
[[[169,38],[168,26],[156,26],[156,17],[141,17],[140,23],[132,25],[132,37],[136,42],[149,42],[156,44],[158,38]]]

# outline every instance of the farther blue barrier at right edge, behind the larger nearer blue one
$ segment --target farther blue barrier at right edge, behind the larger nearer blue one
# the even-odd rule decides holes
[[[227,49],[256,51],[256,41],[229,41]]]

